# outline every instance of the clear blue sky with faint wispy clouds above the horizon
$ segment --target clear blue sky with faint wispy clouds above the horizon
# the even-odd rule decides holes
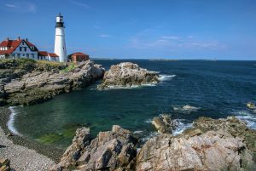
[[[0,38],[54,51],[59,12],[68,54],[256,60],[254,0],[0,0]]]

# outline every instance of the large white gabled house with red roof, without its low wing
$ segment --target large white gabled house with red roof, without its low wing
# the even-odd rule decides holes
[[[26,58],[37,60],[38,59],[38,48],[32,43],[28,42],[27,39],[17,40],[4,40],[0,43],[0,59],[8,58]]]

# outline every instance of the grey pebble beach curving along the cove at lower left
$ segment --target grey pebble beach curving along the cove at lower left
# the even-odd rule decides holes
[[[63,150],[12,135],[7,128],[10,111],[0,107],[0,158],[8,158],[14,170],[49,170],[60,161]]]

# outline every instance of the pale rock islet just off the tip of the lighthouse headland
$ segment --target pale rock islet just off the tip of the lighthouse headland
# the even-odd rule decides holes
[[[159,74],[155,71],[148,71],[131,62],[123,62],[116,66],[111,66],[103,77],[99,89],[108,88],[130,88],[148,83],[158,83]]]

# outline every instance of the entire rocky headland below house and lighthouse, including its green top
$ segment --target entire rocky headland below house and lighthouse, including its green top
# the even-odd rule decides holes
[[[4,65],[0,61],[0,77],[5,84],[0,86],[0,94],[4,93],[3,100],[10,105],[32,105],[49,100],[56,94],[84,88],[102,78],[104,73],[102,66],[90,60],[70,70],[68,66],[50,62],[45,65],[32,60],[22,64],[17,61],[22,60]]]

